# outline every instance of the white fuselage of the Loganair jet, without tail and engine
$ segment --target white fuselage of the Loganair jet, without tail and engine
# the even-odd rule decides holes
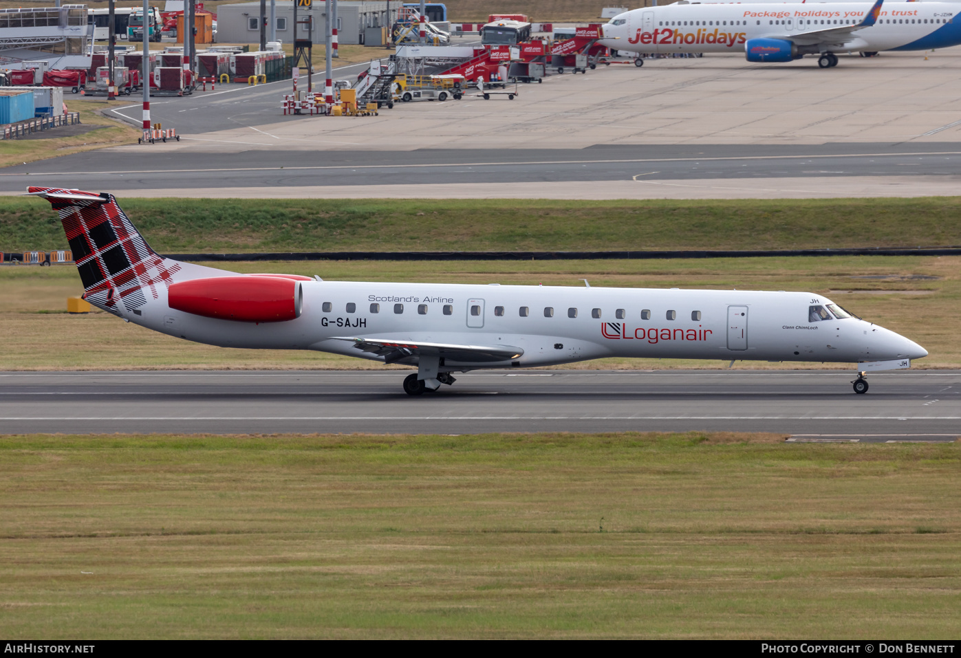
[[[234,322],[175,310],[162,286],[138,314],[121,312],[149,329],[222,347],[375,360],[343,339],[520,348],[519,356],[500,362],[448,361],[449,371],[608,356],[864,362],[926,354],[893,331],[837,317],[847,314],[806,292],[348,281],[302,286],[303,312],[286,322]]]

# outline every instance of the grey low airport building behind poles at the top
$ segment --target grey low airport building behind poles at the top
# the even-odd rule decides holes
[[[267,12],[269,15],[269,5]],[[312,10],[304,10],[298,7],[297,19],[303,20],[308,12],[313,14],[312,41],[323,44],[324,35],[327,31],[324,3],[314,0]],[[277,2],[275,14],[277,16],[277,38],[284,43],[292,43],[294,40],[294,3]],[[259,2],[221,5],[217,9],[217,41],[220,43],[258,42],[260,38],[259,16]],[[338,42],[363,43],[365,28],[390,26],[396,17],[397,9],[391,8],[388,19],[387,3],[385,2],[364,2],[362,0],[338,2]],[[298,27],[297,38],[308,38],[307,26],[301,25]]]

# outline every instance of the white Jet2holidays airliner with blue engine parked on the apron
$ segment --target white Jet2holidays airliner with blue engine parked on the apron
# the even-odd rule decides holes
[[[882,6],[883,5],[883,6]],[[784,62],[835,53],[930,50],[961,43],[956,3],[865,2],[690,4],[621,13],[604,25],[600,43],[629,53],[741,53],[748,61]],[[634,61],[638,66],[644,60]]]

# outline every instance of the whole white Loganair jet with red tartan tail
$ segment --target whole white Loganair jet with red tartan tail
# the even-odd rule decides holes
[[[917,343],[822,295],[540,285],[325,281],[234,272],[156,254],[111,194],[30,187],[60,213],[92,305],[221,347],[316,350],[417,368],[410,395],[452,373],[605,356],[855,363],[908,368]]]

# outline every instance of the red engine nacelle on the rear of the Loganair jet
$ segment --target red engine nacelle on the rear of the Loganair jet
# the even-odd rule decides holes
[[[213,277],[180,281],[167,291],[167,305],[218,320],[285,322],[304,308],[303,283],[273,277]]]

